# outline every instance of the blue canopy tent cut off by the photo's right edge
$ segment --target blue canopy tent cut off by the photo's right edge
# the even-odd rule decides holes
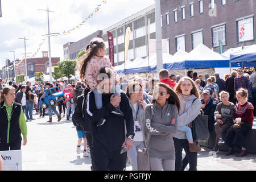
[[[230,63],[243,63],[244,67],[256,67],[256,45],[231,53]]]

